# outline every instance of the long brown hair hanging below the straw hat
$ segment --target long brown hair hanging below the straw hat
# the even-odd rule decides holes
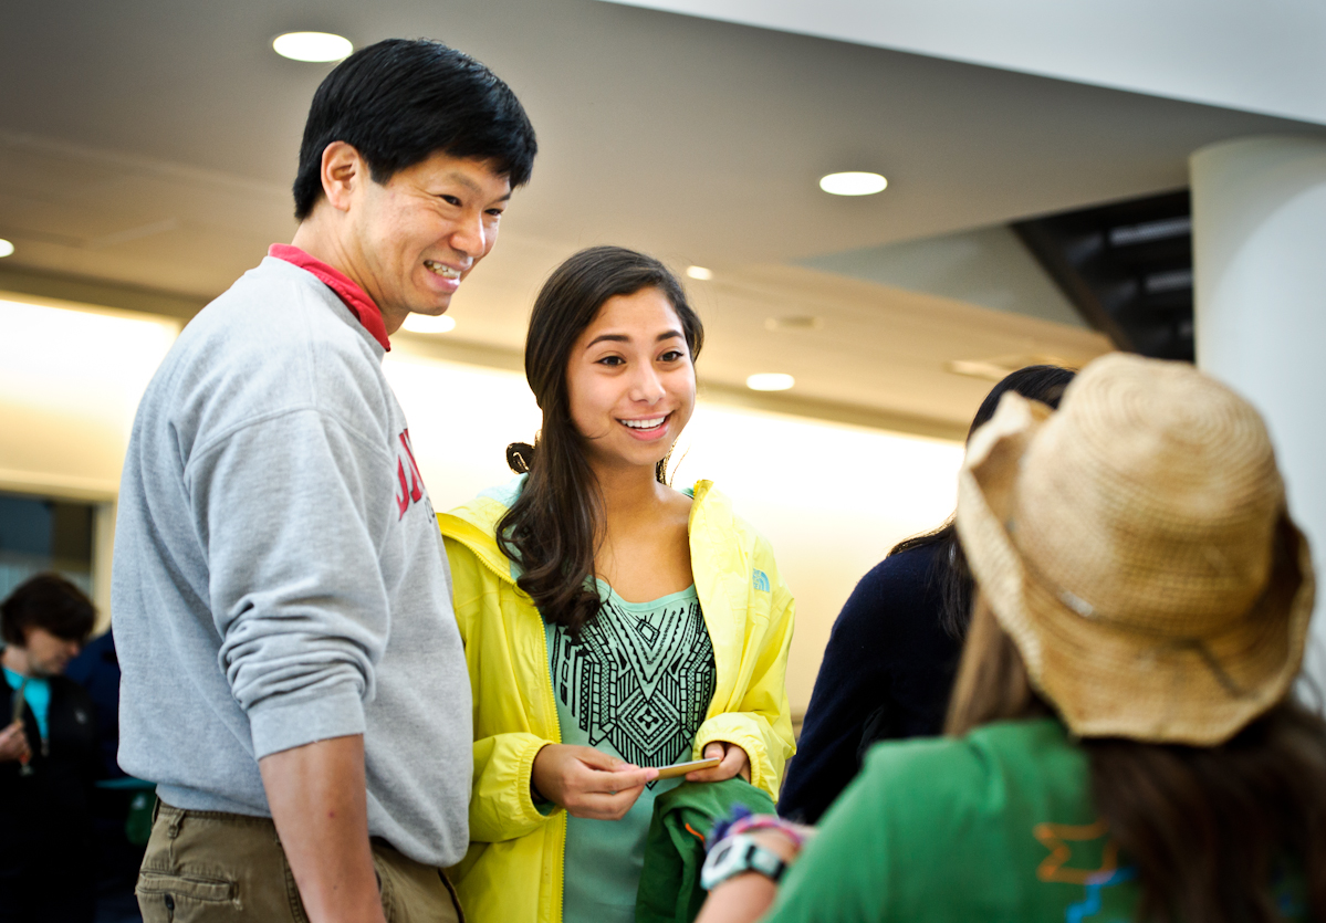
[[[977,593],[945,733],[1052,713]],[[1273,887],[1301,877],[1326,920],[1326,723],[1285,699],[1216,747],[1083,739],[1091,793],[1138,869],[1147,923],[1277,923]]]

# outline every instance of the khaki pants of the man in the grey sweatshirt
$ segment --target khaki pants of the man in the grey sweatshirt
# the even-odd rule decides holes
[[[373,841],[387,923],[464,923],[440,869]],[[159,802],[138,875],[143,923],[308,923],[290,863],[265,817]]]

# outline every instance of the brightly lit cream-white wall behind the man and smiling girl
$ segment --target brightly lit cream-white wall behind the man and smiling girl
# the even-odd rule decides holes
[[[106,587],[113,500],[134,411],[178,333],[129,312],[0,297],[0,489],[102,501],[94,586]],[[522,375],[394,349],[386,374],[438,509],[508,480],[511,442],[540,414]],[[764,533],[797,597],[788,687],[810,699],[829,629],[857,580],[899,538],[953,508],[961,447],[701,400],[675,483],[708,479]],[[98,599],[109,611],[109,599]]]

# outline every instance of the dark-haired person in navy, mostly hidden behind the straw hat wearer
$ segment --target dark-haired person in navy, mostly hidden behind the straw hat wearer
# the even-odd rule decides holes
[[[968,439],[1006,391],[1058,407],[1073,374],[1044,365],[1012,373],[981,402]],[[829,635],[780,814],[815,824],[873,744],[940,733],[971,603],[952,517],[899,542],[861,578]]]

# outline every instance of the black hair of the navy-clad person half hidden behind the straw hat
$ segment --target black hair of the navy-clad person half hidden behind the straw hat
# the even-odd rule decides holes
[[[1005,375],[985,395],[980,408],[977,408],[976,418],[972,420],[972,428],[967,431],[967,440],[971,442],[972,434],[989,422],[998,408],[1000,398],[1009,391],[1016,391],[1029,400],[1040,400],[1058,410],[1063,389],[1073,381],[1073,375],[1074,373],[1070,369],[1046,365],[1026,366]],[[961,641],[967,633],[967,622],[972,615],[972,572],[967,566],[967,554],[963,553],[963,545],[957,541],[957,529],[953,525],[953,517],[949,516],[934,532],[904,538],[894,545],[888,554],[894,556],[899,552],[924,545],[940,546],[935,556],[934,569],[930,573],[931,584],[939,586],[940,626],[943,626],[944,633],[953,641]]]

